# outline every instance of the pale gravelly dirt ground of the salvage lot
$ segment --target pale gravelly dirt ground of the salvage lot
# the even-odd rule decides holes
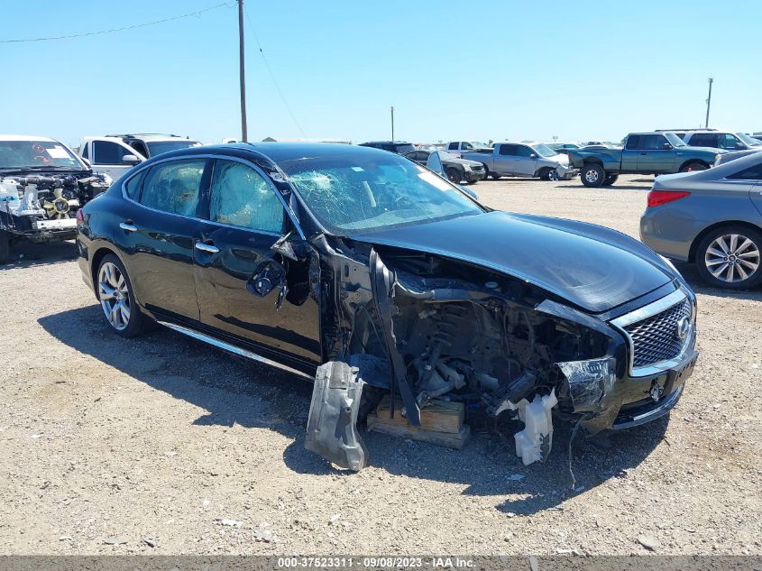
[[[652,180],[624,179],[472,188],[637,236]],[[72,244],[23,253],[0,268],[2,554],[626,555],[642,536],[660,554],[762,554],[760,290],[679,265],[702,351],[682,401],[576,440],[571,491],[563,424],[544,465],[474,427],[462,451],[365,433],[372,465],[336,471],[303,447],[311,385],[168,330],[115,336]]]

